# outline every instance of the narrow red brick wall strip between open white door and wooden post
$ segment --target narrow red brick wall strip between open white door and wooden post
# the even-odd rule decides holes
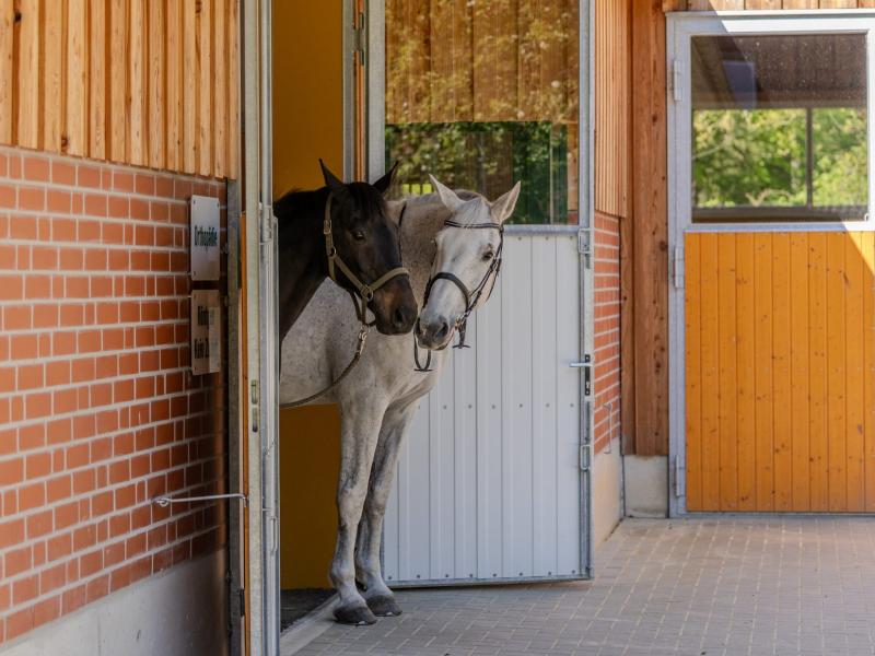
[[[620,434],[620,223],[595,214],[595,450]]]

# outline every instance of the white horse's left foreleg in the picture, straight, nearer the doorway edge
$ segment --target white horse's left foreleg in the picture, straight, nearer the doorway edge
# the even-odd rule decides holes
[[[376,621],[355,587],[353,560],[359,520],[384,408],[375,408],[373,399],[368,398],[345,403],[341,412],[338,529],[330,578],[340,597],[335,617],[346,624],[373,624]]]

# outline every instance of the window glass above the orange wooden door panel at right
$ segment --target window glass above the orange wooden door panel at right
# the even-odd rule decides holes
[[[692,38],[693,221],[862,219],[862,34]]]

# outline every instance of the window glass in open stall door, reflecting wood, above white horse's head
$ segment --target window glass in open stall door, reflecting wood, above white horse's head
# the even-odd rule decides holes
[[[386,162],[399,195],[432,174],[494,199],[512,223],[578,222],[576,0],[387,0]]]

